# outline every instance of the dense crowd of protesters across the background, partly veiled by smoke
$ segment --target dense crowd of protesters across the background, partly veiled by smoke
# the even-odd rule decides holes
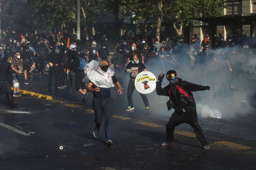
[[[125,66],[132,60],[134,54],[137,54],[139,61],[154,74],[169,68],[176,70],[186,68],[192,71],[201,69],[202,78],[209,85],[215,86],[214,95],[218,94],[219,75],[226,77],[226,81],[221,82],[223,85],[235,89],[243,85],[241,82],[253,81],[255,73],[253,66],[255,47],[250,43],[253,41],[250,41],[249,37],[236,34],[226,35],[225,39],[221,34],[213,37],[207,34],[202,40],[195,34],[192,35],[191,42],[188,42],[188,38],[183,35],[162,36],[162,40],[158,40],[157,35],[143,36],[141,32],[137,35],[125,32],[118,38],[102,35],[100,40],[118,39],[116,53],[110,59],[110,52],[106,45],[97,45],[97,40],[93,36],[89,36],[91,44],[88,49],[83,49],[81,40],[77,40],[76,35],[69,34],[67,30],[63,33],[58,32],[57,35],[45,32],[40,35],[4,33],[4,39],[0,42],[0,55],[2,60],[6,53],[13,57],[12,71],[16,75],[10,76],[11,84],[14,75],[18,77],[17,73],[23,72],[24,84],[29,84],[28,79],[32,81],[35,73],[44,74],[46,67],[49,67],[47,90],[51,90],[52,78],[55,75],[55,90],[67,87],[67,95],[70,95],[70,92],[87,95],[84,86],[82,89],[79,88],[78,84],[81,82],[77,82],[76,86],[74,83],[65,83],[65,80],[73,81],[75,75],[78,76],[78,72],[74,72],[75,66],[72,61],[81,51],[84,52],[83,57],[87,62],[105,60],[110,65],[112,63],[116,77],[124,83],[123,87],[127,86],[124,81]],[[244,81],[236,81],[237,78]],[[14,92],[13,96],[18,97],[20,94]],[[87,96],[85,98],[87,99]]]

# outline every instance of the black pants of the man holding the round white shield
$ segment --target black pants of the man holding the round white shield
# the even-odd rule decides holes
[[[134,84],[134,80],[130,80],[129,84],[128,84],[128,89],[127,89],[127,98],[128,98],[128,106],[130,107],[134,107],[133,103],[132,103],[132,93],[135,90],[135,84]],[[148,98],[145,94],[140,93],[140,96],[145,104],[145,107],[149,107],[149,103],[148,103]]]

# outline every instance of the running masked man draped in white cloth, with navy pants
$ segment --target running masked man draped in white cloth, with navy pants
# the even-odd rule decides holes
[[[90,70],[90,69],[89,69]],[[111,117],[113,115],[113,98],[111,98],[111,86],[112,84],[116,84],[119,92],[119,95],[122,95],[122,86],[117,81],[116,76],[113,75],[113,71],[108,66],[108,62],[103,60],[99,63],[99,69],[97,70],[99,73],[99,77],[102,77],[102,86],[96,86],[97,82],[89,81],[87,85],[87,92],[93,92],[93,101],[92,107],[95,112],[95,129],[93,131],[94,137],[99,137],[99,128],[101,126],[103,115],[105,115],[105,137],[107,138],[107,146],[111,146],[113,131],[112,131],[112,121]],[[110,74],[110,76],[104,76],[106,73]],[[87,73],[88,75],[88,73]],[[90,79],[90,77],[89,77]],[[109,82],[109,83],[107,83]],[[104,86],[104,87],[103,87]]]

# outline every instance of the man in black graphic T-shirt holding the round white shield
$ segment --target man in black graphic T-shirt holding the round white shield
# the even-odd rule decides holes
[[[138,55],[134,54],[132,56],[133,60],[130,61],[128,63],[128,65],[125,68],[125,72],[129,72],[130,73],[130,80],[129,80],[129,84],[128,84],[128,89],[127,89],[127,98],[128,98],[128,108],[126,109],[127,111],[133,110],[134,109],[134,105],[132,102],[132,93],[135,90],[135,78],[137,77],[137,75],[140,72],[143,71],[147,71],[145,65],[143,63],[141,63],[139,61]],[[140,93],[140,96],[145,104],[145,107],[147,109],[148,112],[151,111],[150,107],[149,107],[149,103],[148,103],[148,98],[145,94]]]

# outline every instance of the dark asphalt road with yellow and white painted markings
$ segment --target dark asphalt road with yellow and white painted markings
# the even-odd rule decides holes
[[[59,92],[46,91],[48,75],[33,77],[20,89],[52,96],[48,101],[34,96],[15,98],[9,109],[0,95],[0,170],[254,170],[256,166],[256,111],[232,118],[198,116],[211,147],[203,150],[192,127],[175,129],[174,146],[161,147],[168,98],[148,95],[151,112],[134,92],[134,111],[127,112],[126,90],[114,99],[113,145],[105,146],[104,122],[99,138],[93,136],[92,94],[87,103]],[[23,77],[20,76],[21,82]],[[73,99],[73,100],[72,100]],[[61,150],[60,147],[63,147]]]

